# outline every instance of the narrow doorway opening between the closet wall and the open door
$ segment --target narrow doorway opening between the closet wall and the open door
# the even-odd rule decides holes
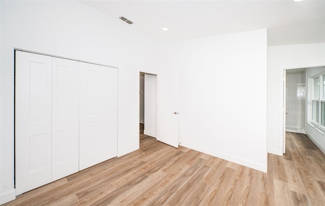
[[[157,75],[140,72],[139,86],[139,136],[156,137]]]

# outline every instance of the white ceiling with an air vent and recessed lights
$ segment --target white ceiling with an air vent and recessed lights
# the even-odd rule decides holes
[[[81,2],[163,42],[268,28],[269,46],[325,43],[325,0]]]

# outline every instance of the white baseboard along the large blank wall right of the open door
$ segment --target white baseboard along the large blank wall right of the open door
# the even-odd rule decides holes
[[[221,153],[221,152],[218,152],[218,151],[209,150],[209,149],[201,149],[201,148],[198,148],[197,146],[187,146],[187,145],[184,145],[184,144],[182,144],[182,146],[185,146],[186,148],[196,150],[196,151],[208,154],[208,155],[212,155],[214,157],[218,157],[218,158],[230,161],[230,162],[234,162],[234,163],[246,166],[246,167],[250,167],[252,169],[256,169],[256,170],[263,171],[263,172],[268,171],[267,164],[262,165],[262,164],[259,164],[259,163],[256,163],[256,162],[252,162],[252,161],[240,158],[240,157],[235,157],[235,156],[232,156],[232,155],[229,155],[229,154],[224,154],[224,153]]]

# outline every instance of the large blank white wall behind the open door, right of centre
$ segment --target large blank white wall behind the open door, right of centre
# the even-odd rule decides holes
[[[267,171],[266,30],[167,45],[181,145]]]

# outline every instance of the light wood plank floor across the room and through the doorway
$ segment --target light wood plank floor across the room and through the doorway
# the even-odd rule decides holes
[[[5,205],[325,205],[325,155],[287,133],[268,173],[140,135],[140,149]]]

